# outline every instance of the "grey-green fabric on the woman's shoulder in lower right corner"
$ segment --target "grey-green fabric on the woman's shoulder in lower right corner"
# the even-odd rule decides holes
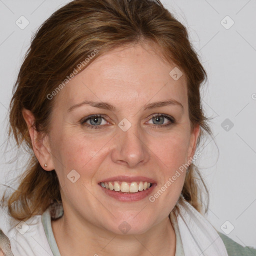
[[[243,247],[225,234],[221,232],[217,233],[226,247],[228,256],[256,256],[256,249],[249,246]]]

